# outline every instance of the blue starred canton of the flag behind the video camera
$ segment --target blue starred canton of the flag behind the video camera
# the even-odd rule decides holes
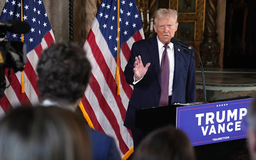
[[[40,44],[41,39],[51,29],[42,0],[22,0],[23,21],[30,24],[30,31],[24,34],[27,53]],[[0,20],[21,20],[21,0],[6,0]],[[6,32],[9,40],[21,41],[21,34]]]

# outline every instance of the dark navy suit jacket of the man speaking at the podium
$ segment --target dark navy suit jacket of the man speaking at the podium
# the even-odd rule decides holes
[[[179,51],[178,51],[179,50]],[[174,45],[174,75],[172,84],[171,104],[175,102],[195,102],[195,62],[194,59],[182,51],[182,47]],[[194,55],[194,52],[188,50]],[[150,62],[144,77],[135,85],[133,82],[133,63],[135,56],[141,56],[142,63]],[[156,36],[133,43],[131,55],[125,66],[126,82],[133,85],[133,92],[129,100],[124,126],[129,129],[135,127],[135,110],[158,106],[161,93],[161,76],[159,54]]]

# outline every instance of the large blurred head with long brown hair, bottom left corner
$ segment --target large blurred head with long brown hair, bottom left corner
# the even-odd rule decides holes
[[[83,120],[60,107],[18,107],[0,121],[0,159],[90,158]]]

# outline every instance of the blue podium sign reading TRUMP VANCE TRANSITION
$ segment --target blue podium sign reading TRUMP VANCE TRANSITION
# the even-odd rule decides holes
[[[246,138],[246,114],[252,98],[177,107],[176,128],[193,146]]]

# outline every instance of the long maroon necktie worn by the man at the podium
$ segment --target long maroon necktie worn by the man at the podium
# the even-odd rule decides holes
[[[164,45],[161,59],[161,97],[159,106],[168,105],[169,100],[169,58],[167,53],[168,44]]]

